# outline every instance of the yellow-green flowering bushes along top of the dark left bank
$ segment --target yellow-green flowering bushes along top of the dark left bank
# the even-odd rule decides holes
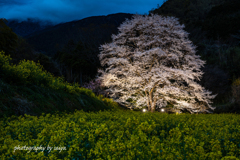
[[[45,71],[40,63],[22,60],[17,65],[10,64],[12,58],[0,52],[1,77],[13,84],[25,85],[35,84],[53,89],[61,89],[70,93],[76,92],[78,84],[64,82],[63,77],[54,77]]]

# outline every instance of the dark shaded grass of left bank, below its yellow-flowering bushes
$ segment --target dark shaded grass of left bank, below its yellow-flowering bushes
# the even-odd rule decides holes
[[[111,108],[97,97],[86,94],[67,93],[36,85],[10,85],[0,79],[0,118],[24,116],[29,114],[40,116],[42,113],[73,113],[75,110],[98,112]]]

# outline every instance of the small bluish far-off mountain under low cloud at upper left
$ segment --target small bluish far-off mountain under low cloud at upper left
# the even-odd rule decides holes
[[[9,19],[7,22],[7,26],[12,28],[13,32],[15,32],[18,36],[25,37],[31,33],[51,27],[53,26],[53,24],[51,22],[29,18],[26,21]]]

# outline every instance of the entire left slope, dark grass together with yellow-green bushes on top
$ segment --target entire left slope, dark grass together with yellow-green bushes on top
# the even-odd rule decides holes
[[[60,81],[36,63],[12,65],[0,53],[0,118],[24,114],[122,109],[112,99],[96,96],[78,84]]]

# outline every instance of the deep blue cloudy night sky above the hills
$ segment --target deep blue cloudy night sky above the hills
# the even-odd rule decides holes
[[[54,23],[113,13],[148,14],[164,0],[0,0],[0,18]]]

